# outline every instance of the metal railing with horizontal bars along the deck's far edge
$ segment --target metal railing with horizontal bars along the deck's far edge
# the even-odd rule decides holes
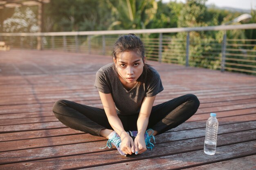
[[[11,49],[110,55],[119,35],[135,33],[144,42],[148,60],[256,75],[256,39],[226,38],[227,30],[243,29],[256,29],[256,24],[116,31],[0,33],[0,41],[5,41]],[[221,31],[223,38],[199,38],[197,35],[211,31]],[[149,34],[157,38],[150,38]]]

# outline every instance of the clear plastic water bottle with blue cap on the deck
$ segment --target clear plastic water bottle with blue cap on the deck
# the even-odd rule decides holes
[[[206,122],[204,139],[204,153],[207,155],[214,155],[216,152],[218,126],[219,122],[216,118],[216,113],[211,113]]]

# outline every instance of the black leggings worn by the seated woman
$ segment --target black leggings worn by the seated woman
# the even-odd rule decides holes
[[[198,110],[200,102],[193,94],[187,94],[162,104],[153,106],[148,127],[157,131],[157,135],[175,128],[189,119]],[[112,129],[104,109],[86,106],[68,100],[58,100],[52,111],[57,119],[66,126],[100,136],[102,129]],[[119,115],[124,130],[137,130],[138,114]]]

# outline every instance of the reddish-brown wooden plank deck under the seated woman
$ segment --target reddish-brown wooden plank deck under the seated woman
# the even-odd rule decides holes
[[[164,91],[155,104],[187,93],[198,96],[197,113],[155,137],[152,151],[122,157],[94,137],[61,124],[52,113],[58,99],[102,107],[96,71],[110,56],[53,51],[0,51],[0,169],[256,169],[256,77],[149,62]],[[217,151],[204,154],[209,113],[219,121]]]

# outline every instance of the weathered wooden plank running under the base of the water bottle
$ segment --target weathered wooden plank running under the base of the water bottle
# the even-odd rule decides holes
[[[177,155],[168,155],[164,157],[156,157],[152,159],[143,159],[138,161],[128,161],[124,163],[116,163],[112,165],[101,166],[90,168],[91,170],[113,170],[113,169],[122,169],[122,170],[139,170],[141,167],[146,170],[163,170],[163,169],[177,169],[177,168],[190,168],[193,166],[200,166],[202,164],[215,163],[218,161],[228,160],[237,158],[237,155],[240,157],[245,157],[249,155],[256,154],[256,148],[254,147],[256,141],[250,141],[246,143],[233,144],[229,146],[222,146],[218,148],[218,152],[215,155],[206,155],[203,150],[198,150],[194,152],[186,152]],[[253,156],[256,157],[255,155]],[[97,157],[98,161],[101,161]],[[121,161],[120,161],[121,162]],[[76,162],[77,163],[77,162]],[[84,162],[85,163],[85,162]],[[109,162],[106,164],[110,164]],[[30,165],[35,165],[34,163]],[[70,164],[69,164],[70,165]],[[80,164],[81,167],[85,168],[85,165]],[[139,166],[138,166],[139,165]],[[53,166],[53,164],[51,164]],[[51,167],[50,166],[50,167]],[[78,168],[76,164],[76,168]],[[89,165],[88,167],[93,166]],[[49,168],[50,168],[49,167]],[[243,169],[243,167],[240,167]]]

